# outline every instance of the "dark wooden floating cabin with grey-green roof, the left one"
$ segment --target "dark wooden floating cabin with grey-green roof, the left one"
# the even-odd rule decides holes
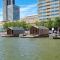
[[[19,36],[19,34],[24,34],[24,29],[22,27],[9,27],[7,29],[7,35]]]

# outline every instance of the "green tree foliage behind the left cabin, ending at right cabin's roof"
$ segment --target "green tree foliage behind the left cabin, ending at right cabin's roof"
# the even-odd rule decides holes
[[[24,29],[30,29],[31,24],[27,24],[25,21],[16,21],[16,22],[5,22],[4,23],[4,28],[8,28],[8,27],[23,27]]]

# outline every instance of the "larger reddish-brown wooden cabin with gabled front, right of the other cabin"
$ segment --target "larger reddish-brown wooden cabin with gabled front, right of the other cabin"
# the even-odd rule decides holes
[[[38,36],[48,36],[49,35],[49,29],[44,26],[32,26],[30,28],[30,34],[32,35],[38,35]]]

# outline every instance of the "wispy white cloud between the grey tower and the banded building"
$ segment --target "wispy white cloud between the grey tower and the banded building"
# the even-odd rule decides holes
[[[36,15],[37,14],[37,4],[27,5],[20,8],[20,17]]]

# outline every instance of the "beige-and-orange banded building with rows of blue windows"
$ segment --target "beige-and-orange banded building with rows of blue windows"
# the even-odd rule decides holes
[[[60,0],[38,0],[38,2],[40,20],[60,16]]]

